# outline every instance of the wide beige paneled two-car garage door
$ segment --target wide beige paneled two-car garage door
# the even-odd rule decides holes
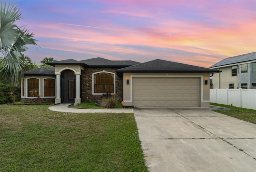
[[[200,106],[200,78],[134,77],[133,106]]]

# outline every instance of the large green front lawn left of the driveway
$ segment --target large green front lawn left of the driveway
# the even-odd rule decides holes
[[[146,172],[133,114],[0,105],[1,172]]]

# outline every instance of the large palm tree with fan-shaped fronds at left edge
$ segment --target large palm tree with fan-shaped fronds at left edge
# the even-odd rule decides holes
[[[19,28],[14,24],[20,20],[21,11],[18,6],[1,0],[0,7],[0,52],[3,54],[1,78],[13,86],[19,86],[22,78],[23,61],[22,52],[25,52],[28,44],[37,45],[32,37],[33,33],[25,27]]]

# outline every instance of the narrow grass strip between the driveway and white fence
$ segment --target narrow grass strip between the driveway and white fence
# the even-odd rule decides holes
[[[256,124],[256,110],[239,108],[236,106],[229,106],[224,104],[216,104],[216,103],[210,103],[210,104],[234,109],[234,110],[214,110],[215,112]]]

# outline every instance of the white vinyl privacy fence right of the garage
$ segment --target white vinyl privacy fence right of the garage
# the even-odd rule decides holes
[[[210,102],[256,110],[256,89],[210,89]]]

